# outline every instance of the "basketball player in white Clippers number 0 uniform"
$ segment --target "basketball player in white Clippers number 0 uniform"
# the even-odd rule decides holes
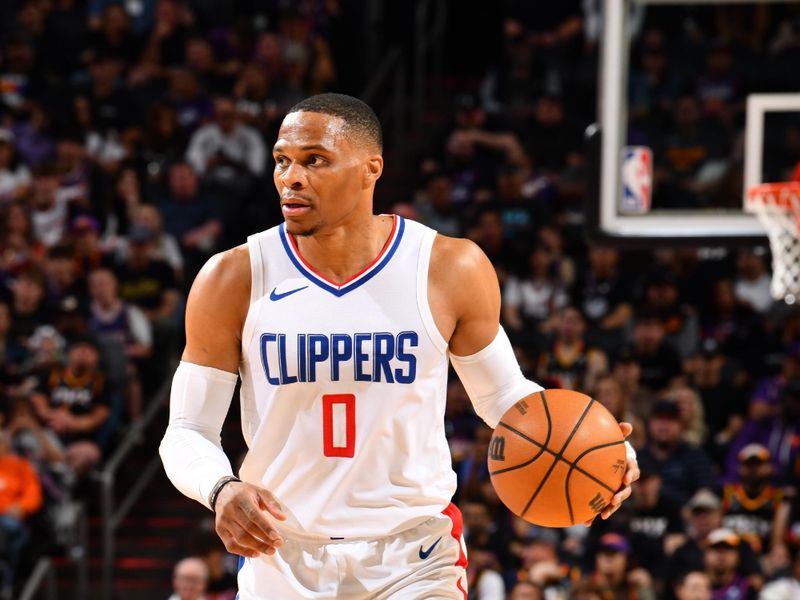
[[[189,294],[161,456],[242,556],[242,600],[466,598],[448,358],[491,427],[541,389],[477,246],[373,215],[381,151],[360,100],[294,106],[273,148],[285,222],[213,257]],[[220,446],[237,375],[241,480]],[[604,518],[637,476],[631,453]]]

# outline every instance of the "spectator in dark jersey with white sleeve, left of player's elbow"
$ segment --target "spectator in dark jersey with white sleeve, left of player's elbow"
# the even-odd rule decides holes
[[[128,418],[136,420],[142,410],[140,365],[153,352],[150,321],[141,309],[122,301],[110,269],[99,268],[89,274],[89,294],[89,331],[103,349],[110,382],[124,390]]]

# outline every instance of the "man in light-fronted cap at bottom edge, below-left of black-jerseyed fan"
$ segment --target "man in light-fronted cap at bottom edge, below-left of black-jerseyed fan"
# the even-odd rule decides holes
[[[747,577],[742,572],[741,538],[730,529],[719,528],[706,537],[704,562],[711,580],[712,600],[755,600],[763,584],[760,575]]]

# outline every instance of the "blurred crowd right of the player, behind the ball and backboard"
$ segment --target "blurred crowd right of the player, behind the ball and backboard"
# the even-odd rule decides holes
[[[632,498],[591,528],[544,529],[500,503],[491,431],[450,382],[470,598],[800,598],[800,313],[770,296],[768,248],[587,242],[602,5],[506,3],[503,59],[455,97],[395,207],[491,258],[529,377],[635,428]],[[744,99],[796,91],[800,10],[634,9],[630,35],[627,135],[654,149],[654,206],[740,205]],[[767,180],[800,164],[783,117]]]

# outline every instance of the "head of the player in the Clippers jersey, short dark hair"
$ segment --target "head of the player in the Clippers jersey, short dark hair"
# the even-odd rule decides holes
[[[378,117],[358,98],[319,94],[295,104],[273,148],[288,231],[314,235],[372,214],[382,151]]]

